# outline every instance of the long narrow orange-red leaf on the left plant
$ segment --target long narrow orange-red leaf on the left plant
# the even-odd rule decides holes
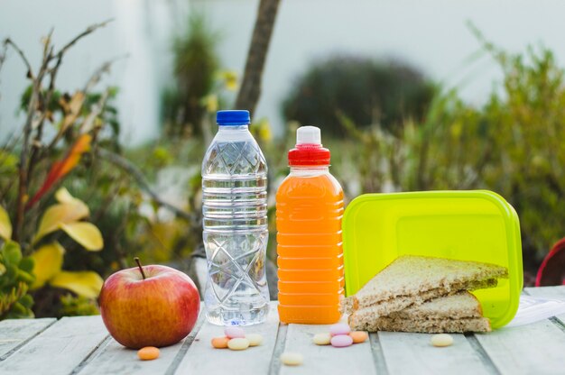
[[[33,206],[45,193],[49,191],[49,189],[55,184],[60,178],[63,178],[69,171],[79,164],[80,157],[83,153],[90,150],[90,142],[92,141],[92,137],[90,134],[82,134],[79,136],[77,141],[72,145],[69,152],[63,160],[55,161],[43,181],[42,187],[39,189],[37,193],[30,199],[30,201],[25,206],[26,208],[30,208]]]

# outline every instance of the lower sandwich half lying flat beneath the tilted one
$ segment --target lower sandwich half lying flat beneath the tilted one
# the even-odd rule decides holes
[[[375,317],[366,307],[349,316],[349,325],[355,330],[402,331],[421,333],[489,332],[490,322],[483,317],[477,297],[464,291],[408,307],[390,316]]]

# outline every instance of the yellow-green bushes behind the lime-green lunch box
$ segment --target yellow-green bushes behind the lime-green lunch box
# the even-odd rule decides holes
[[[342,178],[361,181],[360,192],[494,190],[518,212],[531,247],[524,261],[534,269],[565,235],[564,71],[549,50],[511,55],[485,48],[505,78],[503,90],[480,108],[449,91],[435,97],[422,123],[407,122],[397,135],[378,126],[359,131],[342,116],[356,140],[347,160],[357,167],[357,176]]]

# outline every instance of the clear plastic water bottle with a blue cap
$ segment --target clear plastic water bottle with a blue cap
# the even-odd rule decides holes
[[[248,111],[218,111],[217,123],[202,162],[206,316],[216,325],[255,325],[269,310],[267,164]]]

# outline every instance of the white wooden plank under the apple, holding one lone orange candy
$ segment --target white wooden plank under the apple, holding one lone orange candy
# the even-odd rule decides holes
[[[79,374],[163,374],[169,369],[172,362],[175,361],[184,343],[190,340],[191,335],[196,335],[201,325],[202,316],[203,314],[200,312],[199,320],[193,332],[187,338],[180,343],[160,349],[158,361],[141,361],[137,358],[137,351],[125,348],[125,346],[117,343],[116,340],[110,337],[107,345],[97,350],[93,358],[79,370]]]

